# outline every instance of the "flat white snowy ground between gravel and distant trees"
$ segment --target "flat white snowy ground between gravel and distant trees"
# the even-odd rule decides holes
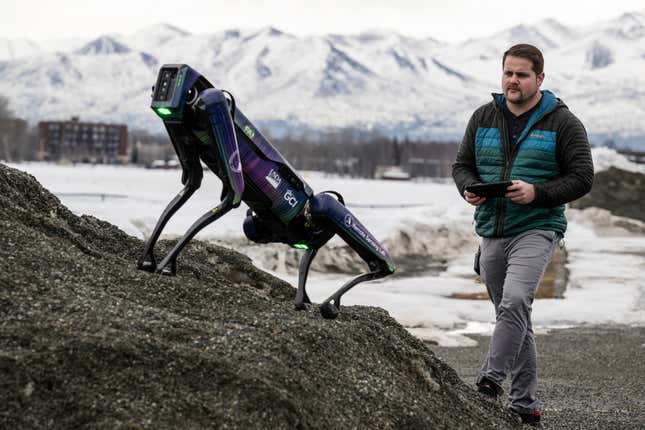
[[[598,170],[610,165],[640,169],[610,150],[594,151],[594,159]],[[12,167],[34,175],[75,213],[94,215],[140,238],[154,227],[167,202],[181,189],[178,170],[42,163]],[[464,333],[492,330],[494,314],[489,302],[450,298],[453,293],[484,290],[470,273],[477,242],[473,208],[459,197],[451,181],[376,181],[308,172],[303,177],[316,191],[340,191],[350,210],[390,252],[401,253],[397,246],[419,246],[429,258],[448,258],[447,270],[437,275],[361,284],[343,297],[344,305],[383,307],[415,335],[442,345],[467,345],[472,341]],[[645,190],[643,194],[645,197]],[[207,174],[202,188],[171,219],[165,234],[183,234],[217,205],[219,195],[219,180]],[[242,205],[199,237],[239,243],[245,212]],[[600,323],[645,324],[645,236],[607,225],[611,216],[594,209],[567,212],[571,220],[566,235],[569,283],[563,299],[535,301],[536,330]],[[402,245],[398,240],[402,232],[413,235],[417,245]],[[336,239],[334,243],[341,242]],[[266,268],[264,263],[256,262]],[[296,273],[278,268],[274,274],[297,284]],[[308,280],[309,295],[320,302],[349,276],[313,272]]]

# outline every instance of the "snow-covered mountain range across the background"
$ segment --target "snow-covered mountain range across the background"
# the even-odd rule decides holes
[[[592,137],[645,149],[645,11],[585,28],[546,19],[459,44],[388,31],[191,34],[168,24],[90,41],[0,40],[0,94],[33,122],[80,116],[160,132],[150,88],[162,64],[186,63],[273,135],[356,127],[459,139],[472,111],[499,91],[502,53],[522,42],[543,50],[543,88]]]

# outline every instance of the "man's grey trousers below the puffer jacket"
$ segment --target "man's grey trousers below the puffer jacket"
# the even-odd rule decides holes
[[[496,323],[488,354],[477,377],[501,386],[511,375],[511,409],[539,409],[537,351],[531,326],[531,305],[560,235],[528,230],[512,237],[483,238],[479,260],[481,278],[495,305]]]

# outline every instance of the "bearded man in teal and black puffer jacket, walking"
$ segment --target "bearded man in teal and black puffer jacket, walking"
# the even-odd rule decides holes
[[[496,313],[477,387],[497,397],[510,375],[510,409],[536,427],[541,414],[531,305],[567,227],[564,204],[588,193],[593,181],[585,129],[560,99],[540,90],[543,66],[532,45],[504,53],[503,94],[493,94],[472,115],[452,170],[461,195],[477,207],[478,270]],[[506,180],[512,185],[505,197],[466,191],[478,182]]]

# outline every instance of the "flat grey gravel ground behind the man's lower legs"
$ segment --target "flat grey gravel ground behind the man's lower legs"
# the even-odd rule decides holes
[[[474,387],[490,338],[472,337],[476,347],[430,348]],[[645,429],[645,327],[554,330],[537,343],[546,428]]]

